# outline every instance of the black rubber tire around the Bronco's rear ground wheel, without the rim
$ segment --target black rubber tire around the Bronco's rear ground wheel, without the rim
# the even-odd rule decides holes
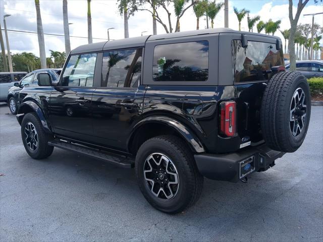
[[[151,183],[145,179],[146,160],[151,154],[156,153],[168,157],[178,173],[178,190],[171,199],[163,198],[163,194],[156,197],[151,192]],[[184,211],[198,200],[202,192],[203,176],[198,172],[194,156],[187,144],[176,136],[158,136],[144,142],[136,155],[135,172],[143,196],[154,208],[165,213],[175,214]]]

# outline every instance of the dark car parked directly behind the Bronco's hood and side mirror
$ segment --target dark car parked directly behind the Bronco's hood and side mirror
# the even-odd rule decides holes
[[[6,101],[12,114],[16,114],[19,107],[19,93],[24,86],[38,86],[38,73],[48,73],[53,83],[58,82],[62,69],[39,69],[26,75],[19,83],[15,83],[7,94]]]

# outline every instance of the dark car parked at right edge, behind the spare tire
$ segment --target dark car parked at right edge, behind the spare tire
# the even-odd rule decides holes
[[[286,70],[289,71],[289,63],[286,64]],[[296,61],[296,71],[306,78],[323,77],[323,61]]]

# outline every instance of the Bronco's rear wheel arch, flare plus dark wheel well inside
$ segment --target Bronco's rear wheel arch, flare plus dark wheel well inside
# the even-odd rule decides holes
[[[138,122],[129,136],[128,151],[136,154],[146,140],[159,135],[175,135],[183,139],[194,153],[205,152],[201,141],[178,120],[165,116],[150,116]]]

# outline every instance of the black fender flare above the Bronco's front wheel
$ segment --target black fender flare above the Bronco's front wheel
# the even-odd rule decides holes
[[[22,104],[20,104],[18,112],[17,112],[17,115],[16,115],[18,123],[21,125],[22,119],[25,116],[25,114],[30,112],[30,111],[26,112],[25,110],[31,110],[31,109],[38,116],[38,118],[39,118],[45,132],[51,134],[51,130],[48,127],[47,120],[45,118],[45,115],[44,115],[41,107],[37,103],[35,103],[35,102],[31,101],[31,100],[24,101]]]

